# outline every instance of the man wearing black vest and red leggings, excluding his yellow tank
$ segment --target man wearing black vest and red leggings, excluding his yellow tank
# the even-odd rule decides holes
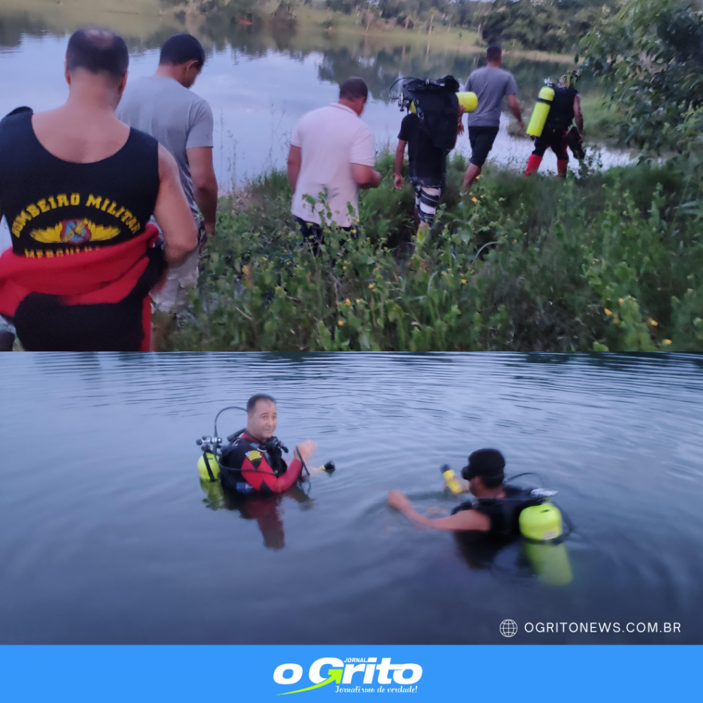
[[[583,142],[581,96],[574,87],[578,79],[579,75],[571,71],[562,76],[559,84],[554,86],[554,100],[549,108],[542,134],[534,140],[534,151],[527,161],[525,176],[537,171],[544,153],[550,148],[557,155],[557,173],[566,177],[567,164],[569,163],[567,133],[574,120],[576,120],[576,130],[579,134],[579,144]]]

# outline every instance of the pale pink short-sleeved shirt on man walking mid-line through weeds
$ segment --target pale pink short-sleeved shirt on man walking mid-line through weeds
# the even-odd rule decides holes
[[[319,223],[318,212],[313,212],[304,195],[319,200],[323,192],[333,220],[342,227],[351,226],[348,203],[355,211],[359,203],[352,164],[373,167],[375,162],[373,133],[368,125],[351,108],[333,103],[303,115],[291,145],[300,148],[302,155],[292,214]],[[321,208],[316,205],[315,209]]]

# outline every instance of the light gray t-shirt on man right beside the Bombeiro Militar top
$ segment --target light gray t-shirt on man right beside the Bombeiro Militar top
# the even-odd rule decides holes
[[[150,76],[128,84],[116,114],[130,127],[153,136],[173,155],[183,191],[197,218],[186,150],[212,147],[212,110],[207,102],[172,78]]]

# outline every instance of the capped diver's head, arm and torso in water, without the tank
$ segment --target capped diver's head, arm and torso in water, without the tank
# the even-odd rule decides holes
[[[504,469],[505,458],[497,449],[479,449],[472,453],[462,475],[475,500],[458,505],[449,517],[432,519],[420,515],[411,501],[398,491],[388,494],[388,503],[414,522],[427,527],[519,535],[520,512],[529,505],[538,505],[543,499],[534,496],[529,489],[505,484]]]

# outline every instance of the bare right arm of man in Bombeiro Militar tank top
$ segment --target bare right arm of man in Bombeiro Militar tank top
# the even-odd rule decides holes
[[[179,266],[198,246],[198,228],[181,187],[176,160],[161,145],[159,181],[154,217],[164,233],[166,263]]]

